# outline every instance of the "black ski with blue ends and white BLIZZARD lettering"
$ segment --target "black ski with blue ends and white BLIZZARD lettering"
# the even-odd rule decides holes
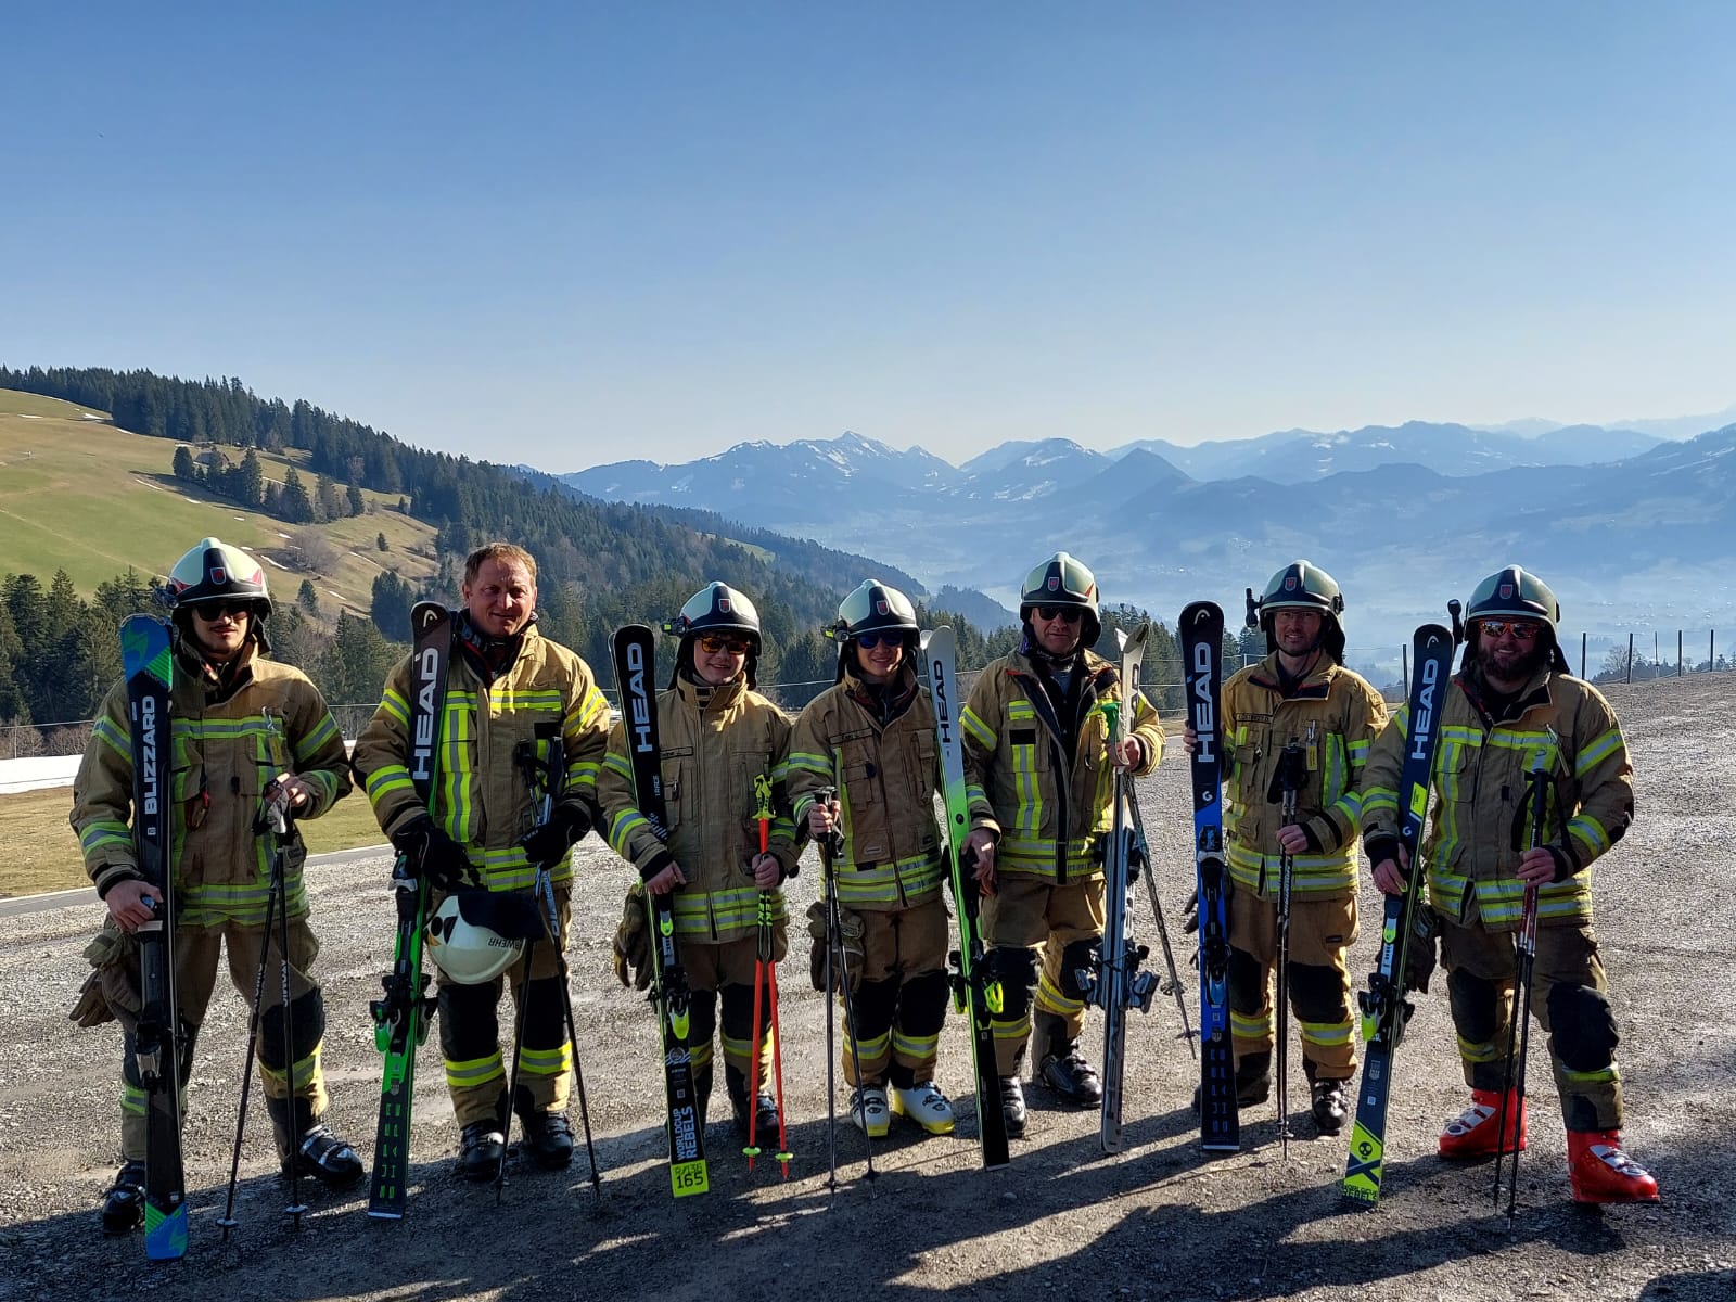
[[[181,1163],[186,1029],[175,1003],[175,870],[167,781],[175,665],[168,625],[151,615],[128,615],[120,625],[120,658],[132,733],[132,844],[139,875],[160,892],[153,918],[134,932],[142,1007],[132,1055],[146,1094],[144,1255],[172,1260],[187,1255],[187,1193]]]

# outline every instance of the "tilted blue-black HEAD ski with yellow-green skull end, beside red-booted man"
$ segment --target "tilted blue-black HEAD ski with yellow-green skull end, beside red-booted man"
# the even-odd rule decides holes
[[[1368,974],[1363,1007],[1363,1083],[1356,1095],[1356,1128],[1351,1158],[1344,1168],[1344,1196],[1359,1203],[1380,1201],[1380,1177],[1387,1156],[1387,1099],[1392,1092],[1392,1059],[1411,1002],[1404,998],[1404,951],[1410,946],[1417,896],[1422,892],[1422,840],[1429,818],[1429,781],[1441,740],[1441,701],[1453,672],[1453,634],[1425,623],[1411,639],[1411,689],[1404,707],[1404,766],[1399,769],[1399,842],[1410,854],[1403,896],[1385,898],[1380,924],[1380,962]]]

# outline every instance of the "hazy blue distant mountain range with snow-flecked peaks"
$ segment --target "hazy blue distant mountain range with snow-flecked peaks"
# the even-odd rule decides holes
[[[1575,634],[1731,627],[1736,424],[1687,441],[1665,439],[1665,424],[1410,422],[1111,451],[1057,437],[957,467],[845,432],[561,479],[589,496],[769,523],[1007,606],[1026,569],[1064,547],[1108,601],[1167,615],[1213,597],[1233,621],[1245,587],[1307,556],[1345,587],[1352,648],[1397,646],[1507,561],[1555,587]]]

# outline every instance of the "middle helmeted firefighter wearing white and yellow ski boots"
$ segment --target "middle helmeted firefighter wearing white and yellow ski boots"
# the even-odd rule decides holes
[[[917,682],[917,611],[903,592],[870,578],[838,606],[826,637],[838,642],[838,681],[795,720],[790,795],[797,821],[816,838],[842,833],[838,904],[861,927],[859,960],[844,974],[854,991],[844,1007],[856,1014],[851,1029],[861,1050],[854,1059],[852,1036],[844,1036],[851,1118],[880,1137],[891,1104],[891,1113],[944,1135],[953,1109],[934,1083],[934,1064],[950,930],[934,821],[939,753],[934,705]],[[837,790],[835,809],[819,799],[828,786]],[[814,944],[823,946],[823,917],[816,930]]]

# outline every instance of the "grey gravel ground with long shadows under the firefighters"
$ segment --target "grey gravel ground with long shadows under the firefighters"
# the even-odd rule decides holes
[[[1243,1115],[1241,1154],[1207,1161],[1187,1101],[1196,1068],[1170,1003],[1128,1031],[1127,1139],[1097,1146],[1095,1113],[1062,1111],[1029,1088],[1029,1137],[1014,1165],[983,1174],[974,1125],[918,1139],[894,1120],[868,1182],[863,1141],[838,1132],[838,1191],[826,1179],[825,1007],[799,962],[785,965],[785,1073],[797,1153],[788,1182],[774,1163],[752,1175],[727,1127],[713,1123],[712,1193],[675,1203],[661,1165],[661,1085],[653,1019],[608,972],[608,943],[628,880],[595,840],[569,960],[580,1050],[604,1182],[592,1196],[583,1156],[568,1174],[519,1163],[495,1207],[491,1189],[451,1179],[455,1132],[437,1049],[420,1059],[415,1187],[408,1219],[372,1222],[365,1191],[311,1196],[292,1231],[264,1113],[255,1102],[241,1156],[240,1229],[222,1212],[234,1135],[245,1007],[219,993],[191,1082],[187,1184],[191,1250],[149,1264],[137,1238],[104,1241],[95,1207],[113,1174],[113,1028],[66,1021],[83,977],[92,904],[0,918],[0,1299],[726,1299],[887,1295],[894,1299],[1736,1299],[1736,677],[1700,675],[1620,687],[1639,771],[1639,821],[1595,870],[1602,951],[1623,1033],[1630,1147],[1660,1177],[1665,1203],[1585,1212],[1568,1200],[1564,1139],[1549,1071],[1524,1154],[1514,1229],[1491,1210],[1491,1168],[1446,1167],[1437,1125],[1463,1102],[1444,996],[1420,1000],[1399,1059],[1387,1194],[1378,1210],[1338,1196],[1344,1139],[1316,1139],[1300,1073],[1288,1161],[1274,1109]],[[1160,885],[1179,915],[1193,861],[1186,771],[1165,762],[1142,785]],[[368,1149],[378,1055],[366,1002],[387,965],[391,904],[382,858],[312,877],[318,974],[330,1000],[325,1064],[330,1121]],[[800,913],[818,865],[795,882]],[[1144,896],[1139,922],[1149,930]],[[1364,899],[1352,958],[1371,965],[1378,901]],[[1149,939],[1149,936],[1147,936]],[[1193,991],[1189,991],[1193,1003]],[[1101,1023],[1087,1043],[1097,1055]],[[969,1042],[948,1024],[943,1085],[967,1094]],[[722,1087],[713,1115],[727,1115]],[[304,1186],[306,1187],[306,1186]]]

